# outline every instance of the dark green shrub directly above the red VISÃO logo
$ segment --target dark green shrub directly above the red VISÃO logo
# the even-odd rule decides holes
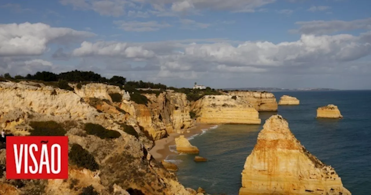
[[[56,121],[31,121],[31,136],[64,136],[66,130]]]

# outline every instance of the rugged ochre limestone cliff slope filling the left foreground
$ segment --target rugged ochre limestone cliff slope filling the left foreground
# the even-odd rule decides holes
[[[97,105],[101,106],[98,112],[83,100],[86,93],[83,94],[79,93],[82,95],[79,96],[74,91],[48,86],[0,82],[0,129],[15,135],[28,135],[32,130],[29,125],[31,121],[55,121],[66,130],[70,152],[72,146],[77,144],[92,155],[98,164],[98,170],[92,171],[77,167],[72,162],[68,180],[6,180],[6,172],[3,172],[6,149],[0,148],[0,193],[78,195],[91,185],[101,195],[112,195],[114,192],[132,194],[134,191],[154,195],[190,194],[173,173],[168,172],[147,152],[151,144],[142,141],[144,135],[135,118],[125,118],[127,114],[116,113],[108,103]],[[107,98],[96,94],[93,96]],[[119,137],[101,139],[88,134],[84,126],[89,122],[118,131]],[[128,131],[128,126],[134,130]]]

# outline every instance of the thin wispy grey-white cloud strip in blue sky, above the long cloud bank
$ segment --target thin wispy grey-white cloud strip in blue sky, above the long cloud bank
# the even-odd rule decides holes
[[[136,31],[136,32],[156,31],[161,28],[171,26],[168,23],[158,23],[157,21],[138,22],[138,21],[116,20],[114,21],[114,24],[117,25],[119,29],[122,29],[125,31]]]

